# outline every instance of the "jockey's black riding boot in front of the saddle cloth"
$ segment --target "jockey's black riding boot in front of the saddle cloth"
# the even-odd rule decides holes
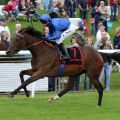
[[[65,50],[63,43],[59,44],[59,50],[62,52],[61,59],[63,59],[63,60],[70,59],[70,56],[68,55],[67,51]]]

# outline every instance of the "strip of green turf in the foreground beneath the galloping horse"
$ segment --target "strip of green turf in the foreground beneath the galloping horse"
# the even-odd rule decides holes
[[[119,120],[120,91],[105,92],[102,107],[97,105],[97,92],[69,93],[56,103],[39,94],[35,98],[0,96],[1,120]]]

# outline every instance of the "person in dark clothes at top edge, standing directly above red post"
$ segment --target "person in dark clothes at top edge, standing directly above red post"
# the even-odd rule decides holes
[[[81,19],[87,19],[87,10],[88,10],[88,6],[87,6],[88,2],[87,0],[79,0],[79,10],[80,10],[80,18]]]

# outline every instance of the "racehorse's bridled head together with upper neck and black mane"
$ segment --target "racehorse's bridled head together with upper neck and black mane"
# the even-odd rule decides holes
[[[7,55],[13,56],[20,50],[30,48],[34,44],[39,43],[41,34],[41,32],[35,30],[34,28],[23,28],[14,35],[11,45],[7,50]]]

